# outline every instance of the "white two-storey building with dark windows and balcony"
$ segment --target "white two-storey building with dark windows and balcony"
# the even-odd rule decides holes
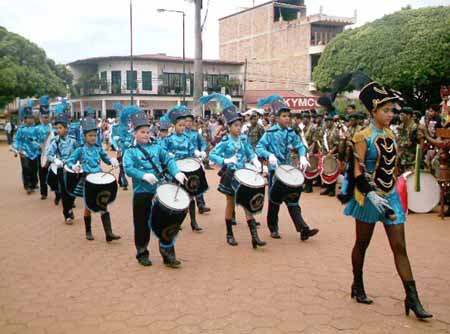
[[[186,104],[193,106],[194,60],[186,59]],[[97,57],[68,64],[74,75],[75,94],[71,96],[74,117],[82,116],[88,106],[98,116],[115,117],[114,103],[129,105],[133,88],[134,104],[159,118],[170,107],[183,102],[183,59],[165,54],[133,57]],[[244,63],[204,60],[204,91],[229,94],[241,106]]]

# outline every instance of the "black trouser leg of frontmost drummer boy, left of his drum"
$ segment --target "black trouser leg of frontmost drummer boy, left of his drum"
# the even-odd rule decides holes
[[[148,256],[148,244],[150,242],[150,213],[154,194],[137,193],[133,196],[133,223],[134,244],[136,246],[136,258]]]

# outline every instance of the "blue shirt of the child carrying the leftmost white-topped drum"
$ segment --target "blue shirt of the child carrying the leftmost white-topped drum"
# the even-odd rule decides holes
[[[69,168],[72,168],[73,165],[77,163],[77,161],[81,162],[84,173],[99,173],[102,171],[102,167],[100,162],[111,165],[111,159],[108,154],[103,150],[103,148],[97,144],[88,145],[84,144],[81,147],[78,147],[67,160],[67,165]]]

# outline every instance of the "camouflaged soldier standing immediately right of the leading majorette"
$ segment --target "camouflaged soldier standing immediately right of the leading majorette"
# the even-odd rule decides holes
[[[397,170],[399,174],[414,168],[416,160],[417,129],[413,120],[413,110],[404,107],[400,112],[400,126],[398,128],[398,156]]]

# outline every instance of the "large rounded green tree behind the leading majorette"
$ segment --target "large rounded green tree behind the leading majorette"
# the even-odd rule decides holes
[[[439,102],[450,80],[450,6],[405,8],[339,34],[326,47],[313,79],[327,90],[337,75],[364,71],[423,110]]]

